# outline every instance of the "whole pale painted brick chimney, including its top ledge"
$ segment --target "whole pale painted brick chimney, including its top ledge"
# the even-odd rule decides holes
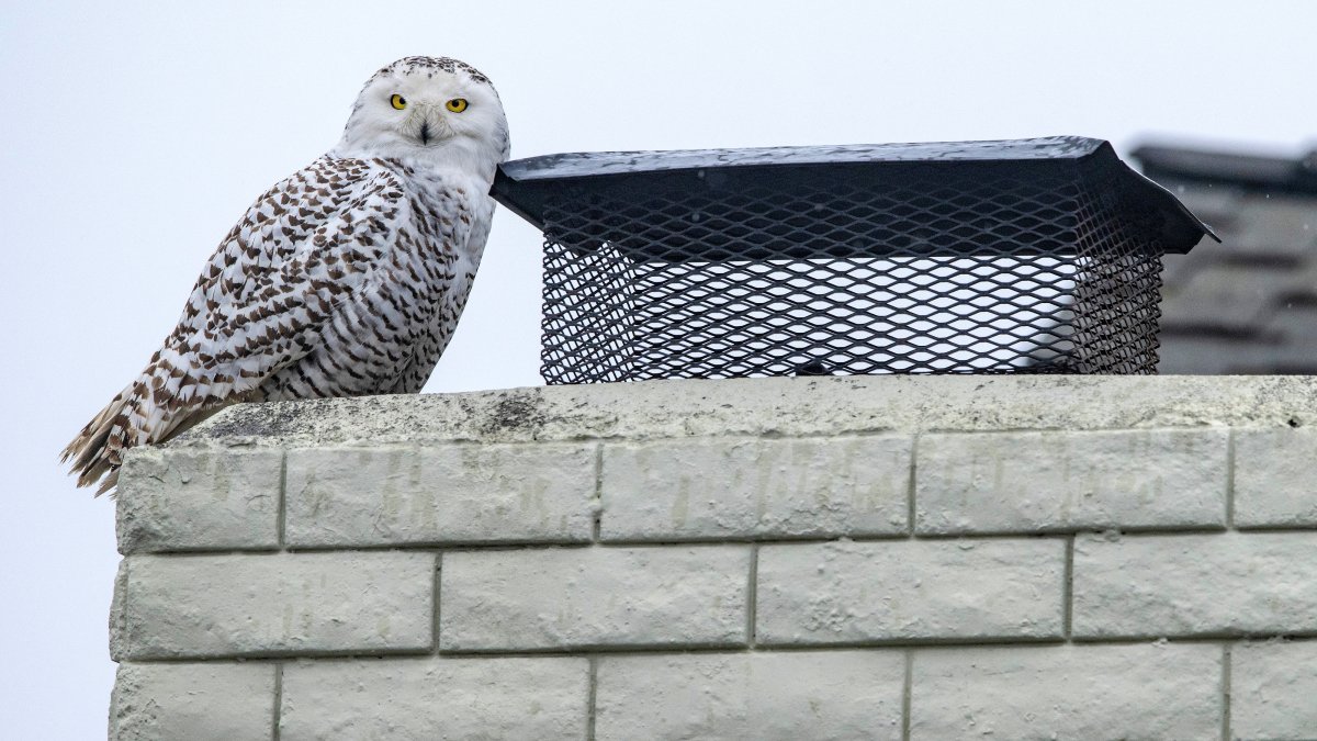
[[[230,409],[133,451],[111,737],[1317,737],[1317,381]]]

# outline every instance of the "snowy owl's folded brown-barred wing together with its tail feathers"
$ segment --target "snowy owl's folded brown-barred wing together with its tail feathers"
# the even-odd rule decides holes
[[[258,198],[141,376],[65,448],[78,484],[113,472],[124,448],[166,439],[306,356],[336,314],[378,283],[410,215],[390,170],[352,158],[323,157]]]

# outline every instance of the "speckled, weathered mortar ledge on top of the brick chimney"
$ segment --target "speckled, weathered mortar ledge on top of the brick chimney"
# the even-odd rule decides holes
[[[170,447],[1317,425],[1309,376],[643,381],[249,403]]]

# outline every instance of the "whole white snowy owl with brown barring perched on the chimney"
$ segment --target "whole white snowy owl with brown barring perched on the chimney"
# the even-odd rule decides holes
[[[65,448],[78,485],[112,489],[126,448],[229,403],[419,392],[466,305],[508,148],[474,67],[375,73],[337,146],[248,208],[163,347]]]

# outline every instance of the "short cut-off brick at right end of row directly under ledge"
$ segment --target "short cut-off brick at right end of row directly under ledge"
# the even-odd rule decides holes
[[[1235,430],[1234,521],[1239,527],[1317,526],[1317,431]]]

